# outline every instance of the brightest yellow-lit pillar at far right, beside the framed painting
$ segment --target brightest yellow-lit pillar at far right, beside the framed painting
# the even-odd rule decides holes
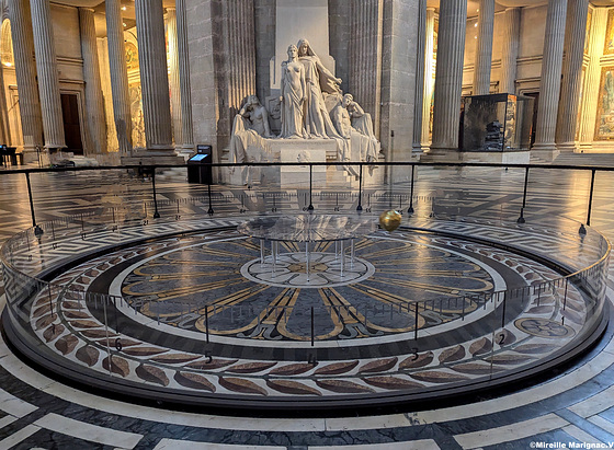
[[[580,115],[580,151],[590,151],[593,147],[601,78],[600,60],[603,56],[603,36],[605,36],[607,23],[607,9],[595,8],[592,15],[589,41],[590,62],[584,74],[582,114]]]

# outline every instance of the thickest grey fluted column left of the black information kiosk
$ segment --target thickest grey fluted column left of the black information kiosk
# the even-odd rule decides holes
[[[147,150],[169,154],[172,130],[162,0],[136,0],[135,12]]]

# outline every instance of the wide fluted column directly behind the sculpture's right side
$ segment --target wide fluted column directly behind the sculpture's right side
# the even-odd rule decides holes
[[[373,117],[375,136],[379,138],[384,2],[353,1],[351,8],[349,89]]]

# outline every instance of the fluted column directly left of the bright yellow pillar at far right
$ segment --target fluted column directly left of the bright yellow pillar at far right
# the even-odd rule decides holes
[[[565,59],[562,61],[562,86],[558,103],[556,145],[559,151],[576,150],[578,107],[582,88],[582,62],[589,0],[569,0],[565,32]]]

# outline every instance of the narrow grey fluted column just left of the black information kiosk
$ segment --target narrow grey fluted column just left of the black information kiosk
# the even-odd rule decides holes
[[[194,150],[192,129],[192,94],[190,86],[190,55],[187,51],[187,23],[185,0],[175,0],[177,5],[177,48],[179,54],[179,85],[181,90],[181,153],[187,155]]]

